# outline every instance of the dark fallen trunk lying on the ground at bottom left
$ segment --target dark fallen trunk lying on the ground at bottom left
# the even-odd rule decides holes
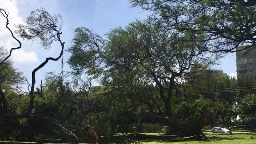
[[[4,137],[8,139],[10,133],[20,131],[21,135],[25,135],[26,137],[23,139],[24,141],[34,141],[35,135],[46,134],[48,138],[60,139],[61,142],[97,143],[98,136],[92,127],[86,127],[82,130],[74,130],[70,132],[57,120],[44,115],[28,116],[27,114],[24,114],[1,116],[0,138],[2,140],[5,140]],[[24,124],[20,124],[18,121],[20,118],[27,118],[28,121]],[[74,132],[76,132],[76,134],[74,134]],[[42,141],[44,142],[44,140]]]

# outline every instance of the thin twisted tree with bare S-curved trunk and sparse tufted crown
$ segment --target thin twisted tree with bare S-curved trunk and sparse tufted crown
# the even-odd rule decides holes
[[[30,105],[28,109],[28,115],[31,115],[34,104],[34,89],[36,84],[36,71],[40,68],[43,68],[49,60],[58,61],[62,57],[62,65],[63,65],[63,51],[64,44],[60,39],[60,35],[62,34],[62,18],[61,15],[50,15],[45,9],[37,9],[32,11],[30,16],[27,18],[27,25],[19,25],[17,33],[20,37],[28,39],[28,40],[36,40],[40,39],[42,46],[47,49],[51,48],[51,44],[53,42],[60,43],[60,54],[58,57],[48,57],[44,62],[42,62],[38,67],[36,67],[32,71],[32,82],[30,88]],[[63,68],[63,66],[62,66]]]

